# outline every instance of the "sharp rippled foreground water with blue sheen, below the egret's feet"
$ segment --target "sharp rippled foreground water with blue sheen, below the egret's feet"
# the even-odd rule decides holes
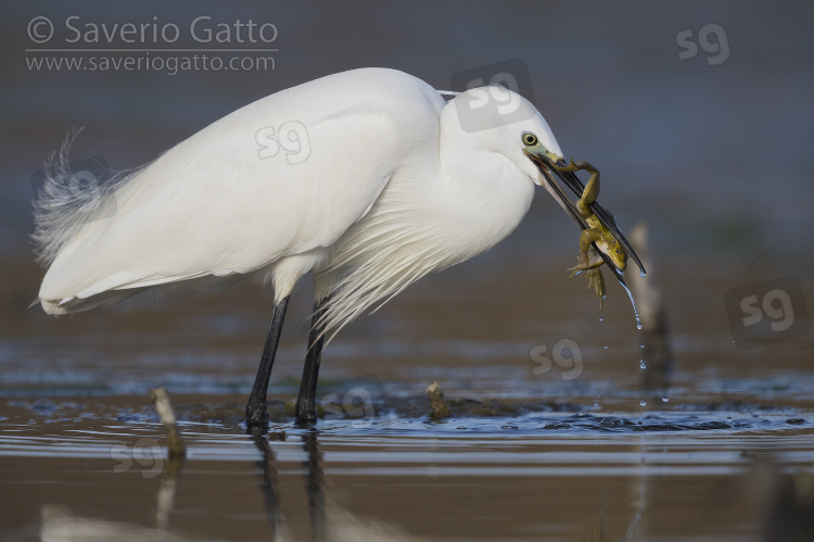
[[[48,415],[5,402],[0,484],[18,526],[7,534],[578,540],[602,526],[611,540],[634,527],[648,540],[746,540],[760,527],[752,511],[772,505],[775,470],[814,462],[811,421],[747,408],[444,423],[384,414],[318,432],[275,425],[283,440],[260,441],[182,420],[188,457],[175,463],[150,408],[127,406],[136,402],[55,401]]]

